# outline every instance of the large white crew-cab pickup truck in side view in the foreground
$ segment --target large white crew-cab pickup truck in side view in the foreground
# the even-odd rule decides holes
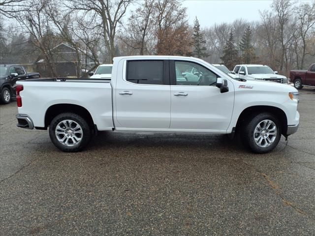
[[[183,77],[192,71],[198,80]],[[17,83],[18,126],[47,129],[57,148],[79,151],[102,130],[229,134],[253,152],[275,148],[299,125],[297,90],[233,79],[201,59],[114,59],[111,80]]]

